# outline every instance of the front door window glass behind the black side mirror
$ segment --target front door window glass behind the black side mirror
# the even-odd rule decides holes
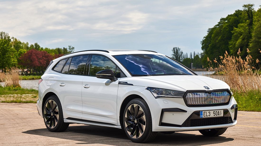
[[[96,76],[96,72],[110,69],[115,73],[116,65],[110,61],[110,59],[100,56],[100,55],[92,55],[91,63],[90,63],[90,76]]]

